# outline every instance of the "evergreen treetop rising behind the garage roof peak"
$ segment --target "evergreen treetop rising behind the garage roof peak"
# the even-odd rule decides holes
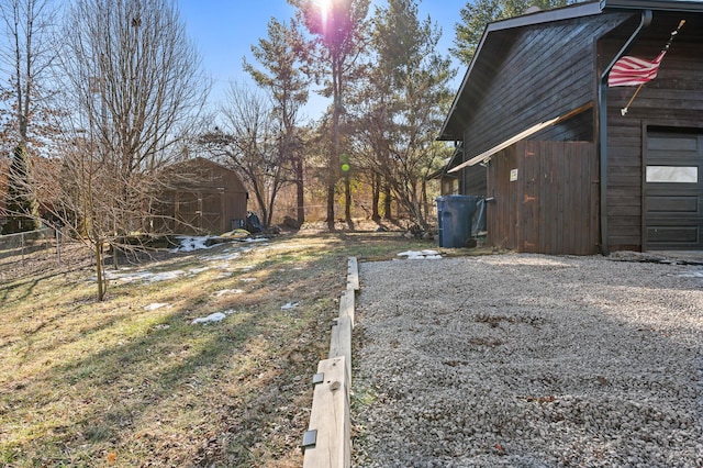
[[[461,21],[455,24],[455,47],[450,48],[451,55],[469,65],[476,54],[486,25],[493,21],[524,14],[531,7],[540,10],[550,10],[565,7],[569,3],[578,3],[576,0],[472,0],[461,9]]]

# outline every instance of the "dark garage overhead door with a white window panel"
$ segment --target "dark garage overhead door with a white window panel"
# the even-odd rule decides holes
[[[646,248],[703,248],[703,133],[647,132]]]

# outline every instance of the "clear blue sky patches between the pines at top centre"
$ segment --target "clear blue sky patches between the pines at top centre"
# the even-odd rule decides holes
[[[372,3],[380,3],[380,0]],[[454,43],[454,24],[467,0],[424,0],[419,3],[421,19],[429,15],[442,27],[438,48],[448,55]],[[178,0],[178,7],[190,38],[200,49],[203,67],[214,79],[213,103],[224,97],[230,81],[250,82],[242,70],[242,57],[246,56],[256,64],[250,46],[267,36],[268,21],[271,18],[287,21],[294,14],[294,9],[286,0]],[[456,59],[454,66],[459,71],[454,83],[456,91],[466,69]],[[317,119],[321,110],[316,107],[323,104],[320,100],[311,101],[305,113]]]

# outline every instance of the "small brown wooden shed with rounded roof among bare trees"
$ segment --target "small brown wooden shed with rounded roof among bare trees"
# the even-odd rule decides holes
[[[177,234],[222,234],[244,226],[247,191],[232,169],[202,157],[169,166],[159,219]]]

